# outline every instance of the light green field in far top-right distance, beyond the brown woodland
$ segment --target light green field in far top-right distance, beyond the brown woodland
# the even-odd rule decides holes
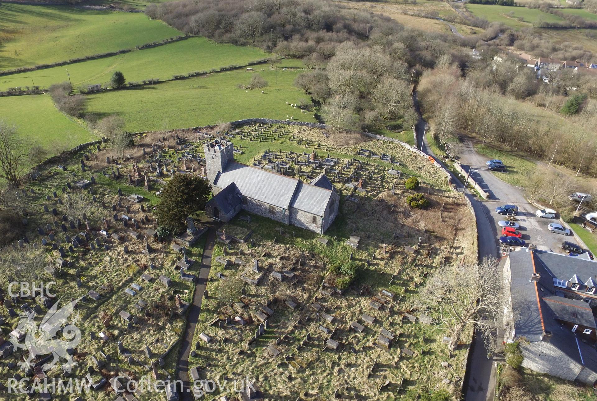
[[[505,5],[485,5],[485,4],[467,4],[467,10],[475,14],[477,17],[485,18],[493,22],[501,22],[507,26],[515,29],[532,26],[540,19],[545,22],[561,22],[564,21],[560,17],[556,17],[543,11],[535,10],[526,7],[508,7]],[[512,13],[512,16],[509,14]],[[523,18],[519,21],[517,18]]]

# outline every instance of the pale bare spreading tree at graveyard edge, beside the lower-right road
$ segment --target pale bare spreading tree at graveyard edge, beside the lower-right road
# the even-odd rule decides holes
[[[461,335],[472,325],[481,333],[488,350],[496,346],[495,330],[504,313],[503,280],[496,260],[479,264],[440,267],[418,294],[415,306],[430,310],[450,327],[453,351]]]

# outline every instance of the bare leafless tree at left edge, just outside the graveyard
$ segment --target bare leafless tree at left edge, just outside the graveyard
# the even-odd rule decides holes
[[[17,137],[17,128],[0,120],[0,178],[11,184],[19,183],[29,150],[29,142]]]

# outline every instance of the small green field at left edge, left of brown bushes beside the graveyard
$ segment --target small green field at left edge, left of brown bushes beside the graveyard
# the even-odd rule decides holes
[[[91,132],[56,110],[50,96],[0,97],[0,110],[0,119],[16,125],[24,141],[39,144],[52,155],[94,139]]]

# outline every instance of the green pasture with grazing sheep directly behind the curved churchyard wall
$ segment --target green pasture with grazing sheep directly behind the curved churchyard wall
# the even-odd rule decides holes
[[[289,70],[282,70],[288,67]],[[292,68],[291,68],[292,67]],[[285,104],[306,98],[293,82],[301,72],[300,60],[284,60],[275,71],[269,64],[253,67],[269,86],[261,90],[241,90],[237,84],[246,84],[251,72],[236,69],[208,76],[164,82],[154,88],[144,86],[120,91],[101,92],[88,97],[88,110],[99,116],[117,114],[127,121],[129,131],[150,131],[199,127],[220,121],[267,117],[315,121],[313,113],[303,114],[300,109]]]

